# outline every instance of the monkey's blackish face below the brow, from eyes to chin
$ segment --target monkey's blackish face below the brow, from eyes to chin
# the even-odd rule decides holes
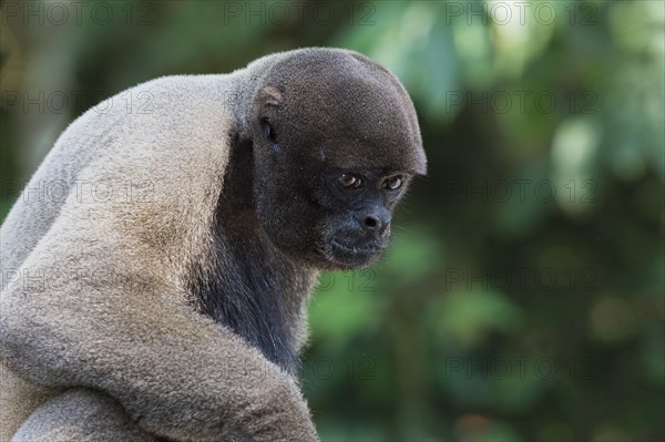
[[[273,186],[256,195],[259,218],[273,243],[321,269],[374,264],[388,246],[392,212],[411,174],[323,167],[313,176],[295,187],[285,184],[284,192]],[[272,204],[275,201],[282,201],[279,207]]]

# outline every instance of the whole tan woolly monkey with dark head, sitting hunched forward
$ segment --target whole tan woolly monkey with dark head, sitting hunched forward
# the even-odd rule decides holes
[[[28,185],[68,197],[27,191],[0,230],[0,441],[316,441],[307,300],[320,269],[379,256],[424,173],[406,91],[311,48],[126,93],[150,112],[119,94],[79,117]]]

